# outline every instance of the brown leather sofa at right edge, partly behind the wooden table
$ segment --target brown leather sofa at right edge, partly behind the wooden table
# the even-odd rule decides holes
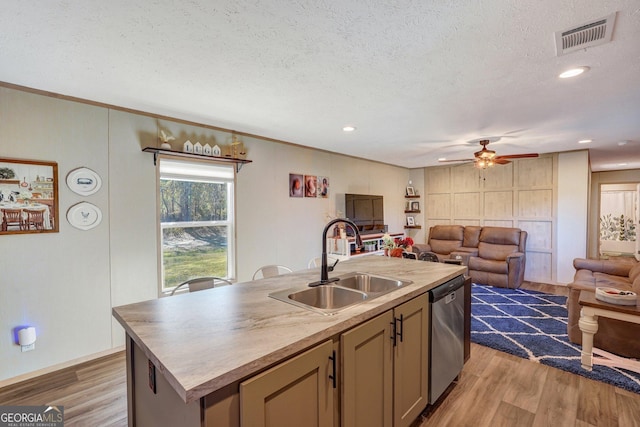
[[[569,320],[567,333],[569,340],[582,344],[580,320],[580,292],[595,292],[596,287],[617,288],[640,293],[640,263],[634,259],[626,262],[618,260],[596,260],[576,258],[573,260],[576,274],[568,285],[567,311]],[[620,320],[600,317],[598,332],[593,338],[593,346],[624,357],[640,358],[640,325]]]

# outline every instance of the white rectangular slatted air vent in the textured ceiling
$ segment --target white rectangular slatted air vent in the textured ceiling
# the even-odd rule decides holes
[[[561,56],[576,50],[597,46],[611,41],[616,13],[570,28],[556,31],[556,55]]]

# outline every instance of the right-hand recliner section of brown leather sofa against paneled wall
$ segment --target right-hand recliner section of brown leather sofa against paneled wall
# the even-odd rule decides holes
[[[477,256],[469,258],[473,283],[518,288],[524,280],[527,232],[519,228],[482,227]]]

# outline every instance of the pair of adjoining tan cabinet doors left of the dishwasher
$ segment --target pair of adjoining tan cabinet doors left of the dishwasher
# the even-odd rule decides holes
[[[409,426],[427,406],[427,294],[341,335],[342,425]]]

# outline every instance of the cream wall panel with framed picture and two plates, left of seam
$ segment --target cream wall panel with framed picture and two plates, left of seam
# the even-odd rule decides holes
[[[80,231],[58,218],[59,233],[0,236],[0,379],[111,347],[109,115],[104,108],[0,88],[1,155],[55,161],[58,179],[80,166],[103,188],[82,197],[59,184],[60,217],[88,201],[102,223]],[[36,327],[21,353],[12,329]]]

